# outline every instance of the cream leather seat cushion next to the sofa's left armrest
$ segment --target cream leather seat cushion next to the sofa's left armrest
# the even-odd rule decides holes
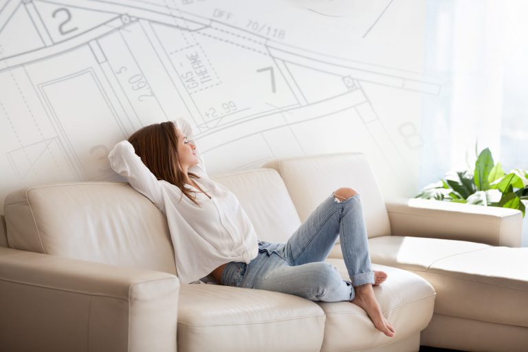
[[[181,285],[178,351],[320,351],[325,313],[311,300],[221,285]]]

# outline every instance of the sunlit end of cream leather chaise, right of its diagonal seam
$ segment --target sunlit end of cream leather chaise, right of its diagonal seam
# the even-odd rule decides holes
[[[421,276],[437,289],[439,314],[528,327],[528,248],[450,256]]]

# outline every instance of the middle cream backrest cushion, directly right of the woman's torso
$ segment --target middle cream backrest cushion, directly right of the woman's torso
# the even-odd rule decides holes
[[[211,178],[239,199],[259,240],[284,243],[299,227],[300,219],[292,198],[276,170],[261,168]]]

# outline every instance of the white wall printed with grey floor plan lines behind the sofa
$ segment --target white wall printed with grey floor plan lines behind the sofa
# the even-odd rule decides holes
[[[0,0],[0,202],[121,180],[107,153],[184,117],[211,174],[360,151],[412,197],[423,148],[426,2]],[[194,64],[194,67],[193,67]],[[343,185],[353,186],[353,185]],[[3,211],[1,211],[3,212]]]

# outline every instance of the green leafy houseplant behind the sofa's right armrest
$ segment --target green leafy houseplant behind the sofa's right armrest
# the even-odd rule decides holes
[[[517,209],[525,217],[528,172],[516,168],[505,173],[500,162],[494,164],[489,148],[485,148],[478,154],[472,172],[448,174],[438,183],[423,188],[416,198]]]

